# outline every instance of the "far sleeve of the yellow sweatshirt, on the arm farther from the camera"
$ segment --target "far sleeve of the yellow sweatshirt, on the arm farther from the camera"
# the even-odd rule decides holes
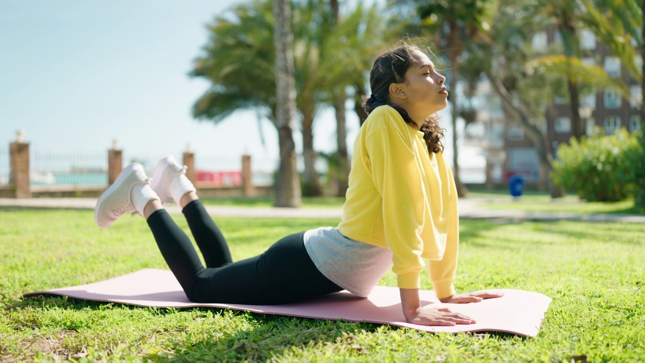
[[[457,211],[457,187],[452,171],[448,169],[448,183],[450,183],[450,203],[454,211],[450,214],[448,221],[448,234],[446,235],[446,250],[443,258],[438,261],[430,261],[428,273],[430,281],[435,289],[437,298],[445,298],[455,295],[453,280],[457,272],[457,255],[459,253],[459,213]]]

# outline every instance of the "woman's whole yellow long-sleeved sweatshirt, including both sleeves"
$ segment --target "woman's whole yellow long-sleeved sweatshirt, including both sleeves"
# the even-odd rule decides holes
[[[339,231],[392,250],[399,287],[421,287],[428,258],[437,297],[454,295],[457,189],[443,154],[428,154],[423,132],[392,107],[377,107],[354,143],[349,182]]]

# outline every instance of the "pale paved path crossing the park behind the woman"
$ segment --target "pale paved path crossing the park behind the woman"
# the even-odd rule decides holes
[[[478,198],[459,200],[460,218],[493,218],[520,222],[524,220],[584,220],[594,222],[628,222],[645,223],[645,215],[632,214],[576,214],[569,212],[526,212],[502,211],[483,209],[479,204],[490,202]],[[0,198],[0,208],[66,208],[94,209],[94,198],[29,198],[8,199]],[[181,214],[178,205],[166,207],[168,213]],[[249,217],[249,218],[341,218],[341,209],[337,208],[272,208],[272,207],[230,207],[221,205],[206,205],[206,210],[212,216]]]

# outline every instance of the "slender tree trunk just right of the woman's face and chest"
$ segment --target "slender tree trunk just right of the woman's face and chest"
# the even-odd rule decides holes
[[[452,107],[452,146],[453,146],[453,169],[452,174],[455,177],[455,185],[457,185],[457,196],[460,198],[468,194],[468,189],[461,183],[461,178],[459,178],[459,147],[457,146],[457,78],[459,77],[459,65],[457,57],[459,57],[459,52],[461,51],[461,42],[459,41],[459,28],[457,28],[456,21],[450,21],[450,33],[448,33],[449,44],[452,45],[450,52],[450,105]]]

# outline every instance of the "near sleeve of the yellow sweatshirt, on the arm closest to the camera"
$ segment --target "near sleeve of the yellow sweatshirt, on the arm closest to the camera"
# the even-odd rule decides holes
[[[401,132],[392,127],[373,130],[366,139],[372,178],[382,197],[385,241],[393,253],[392,271],[403,289],[421,287],[424,196],[415,154]]]

